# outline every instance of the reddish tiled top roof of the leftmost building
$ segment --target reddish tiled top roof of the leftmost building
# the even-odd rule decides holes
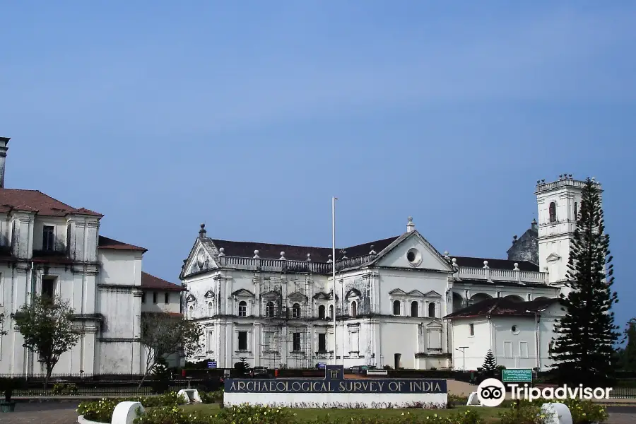
[[[0,212],[31,211],[44,216],[66,216],[72,213],[102,217],[86,208],[73,208],[38,190],[0,189]]]

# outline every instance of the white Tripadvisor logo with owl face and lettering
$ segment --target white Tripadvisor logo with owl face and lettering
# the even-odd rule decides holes
[[[583,384],[579,384],[579,387],[568,387],[567,385],[562,387],[546,387],[545,389],[539,389],[538,387],[529,387],[528,384],[520,386],[519,384],[508,384],[510,388],[510,399],[512,400],[528,400],[535,401],[537,399],[545,400],[560,400],[565,399],[580,399],[589,401],[591,399],[609,399],[611,387],[603,389],[597,387],[591,389],[590,387],[583,387]],[[477,387],[477,397],[481,401],[483,406],[500,406],[506,397],[505,385],[496,378],[489,378],[483,380]]]

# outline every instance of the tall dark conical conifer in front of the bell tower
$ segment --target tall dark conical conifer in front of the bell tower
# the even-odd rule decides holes
[[[553,360],[559,379],[587,387],[608,384],[613,378],[618,340],[611,307],[618,302],[613,285],[609,236],[605,234],[601,192],[589,178],[582,192],[577,228],[570,247],[565,317],[556,329]]]

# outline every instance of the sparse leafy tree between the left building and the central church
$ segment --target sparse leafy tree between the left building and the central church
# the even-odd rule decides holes
[[[146,370],[139,387],[148,374],[170,355],[192,355],[201,347],[203,330],[196,322],[165,312],[141,314],[141,344],[146,346]]]

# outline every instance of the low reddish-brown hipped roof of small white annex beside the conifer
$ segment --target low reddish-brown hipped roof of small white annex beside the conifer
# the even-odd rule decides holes
[[[448,314],[444,319],[486,317],[488,315],[491,317],[534,317],[533,312],[526,311],[538,312],[558,302],[558,298],[533,300],[531,302],[514,302],[514,300],[506,298],[493,298],[482,300],[474,305]]]

